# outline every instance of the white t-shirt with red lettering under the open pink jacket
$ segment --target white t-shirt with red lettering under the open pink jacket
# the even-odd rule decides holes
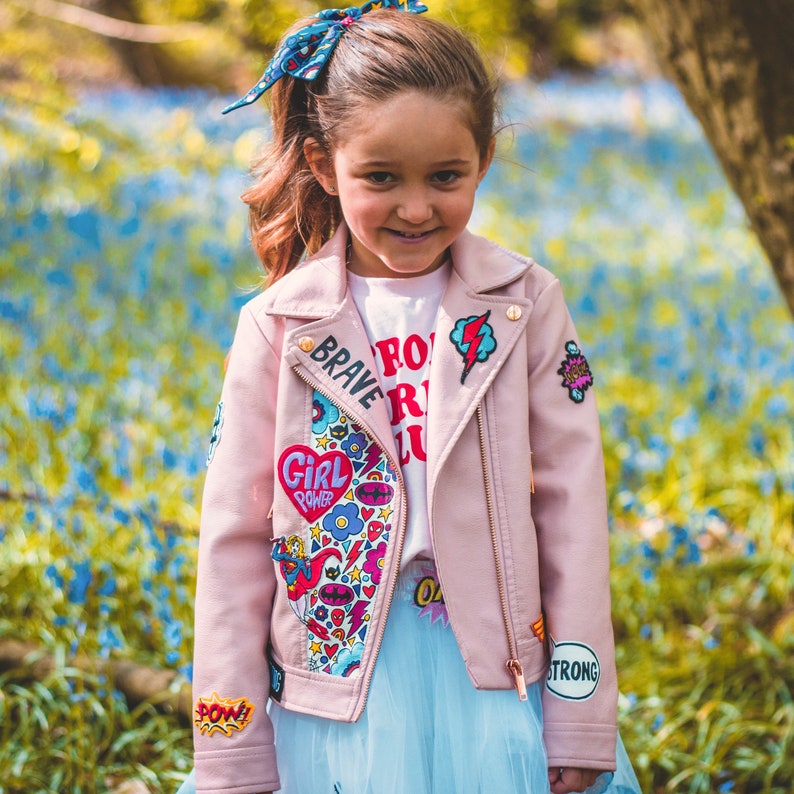
[[[449,280],[447,262],[411,278],[365,278],[348,285],[367,331],[391,420],[408,496],[402,564],[432,558],[427,513],[427,393],[436,318]]]

